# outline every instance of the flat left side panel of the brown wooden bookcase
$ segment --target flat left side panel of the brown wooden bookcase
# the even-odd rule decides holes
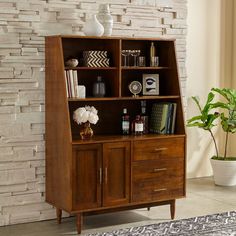
[[[46,201],[71,211],[71,129],[59,37],[46,38]]]

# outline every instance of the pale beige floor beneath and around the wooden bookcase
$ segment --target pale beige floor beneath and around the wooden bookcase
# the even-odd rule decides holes
[[[187,182],[187,198],[177,200],[176,219],[236,209],[236,187],[215,186],[212,178]],[[107,232],[124,227],[169,221],[169,206],[85,217],[81,235]],[[1,236],[67,236],[77,235],[75,217],[0,227]]]

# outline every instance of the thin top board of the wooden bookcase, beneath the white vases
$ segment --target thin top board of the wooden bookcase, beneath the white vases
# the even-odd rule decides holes
[[[158,41],[175,41],[175,38],[143,38],[143,37],[118,37],[118,36],[82,36],[82,35],[51,35],[51,36],[46,36],[46,38],[51,38],[51,37],[56,37],[56,38],[75,38],[75,39],[116,39],[116,40],[158,40]]]

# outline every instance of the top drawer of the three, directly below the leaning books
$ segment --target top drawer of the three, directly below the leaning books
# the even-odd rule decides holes
[[[176,157],[184,157],[184,138],[158,138],[134,142],[134,161]]]

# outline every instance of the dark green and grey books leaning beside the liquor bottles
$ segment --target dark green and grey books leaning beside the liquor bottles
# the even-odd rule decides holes
[[[177,104],[173,102],[152,105],[150,132],[157,134],[174,134]]]

